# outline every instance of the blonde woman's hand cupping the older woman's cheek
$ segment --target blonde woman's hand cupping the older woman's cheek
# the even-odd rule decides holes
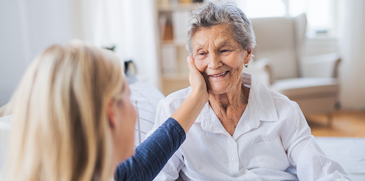
[[[205,102],[209,101],[209,94],[207,90],[207,83],[203,77],[203,74],[198,70],[195,66],[194,60],[192,57],[187,57],[188,66],[189,66],[189,82],[191,86],[192,94],[199,96],[199,98],[203,98]]]

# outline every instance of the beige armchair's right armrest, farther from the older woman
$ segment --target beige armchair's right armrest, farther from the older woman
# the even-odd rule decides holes
[[[341,59],[337,53],[305,57],[301,62],[302,77],[338,77]]]

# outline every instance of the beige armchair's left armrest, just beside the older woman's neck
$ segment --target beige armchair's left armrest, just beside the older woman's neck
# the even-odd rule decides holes
[[[269,86],[275,80],[271,61],[268,58],[251,61],[248,68],[244,68],[243,70],[246,73],[254,75],[264,85]]]

